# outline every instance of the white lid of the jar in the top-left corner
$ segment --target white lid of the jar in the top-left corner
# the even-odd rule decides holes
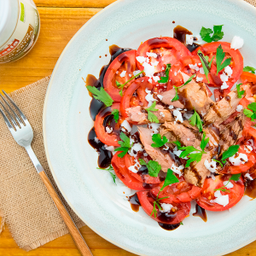
[[[18,0],[0,0],[0,50],[15,31],[18,15]]]

